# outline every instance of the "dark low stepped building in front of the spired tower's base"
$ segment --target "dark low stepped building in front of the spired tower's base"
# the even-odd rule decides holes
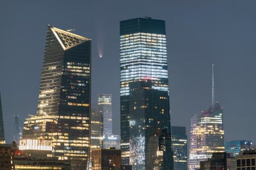
[[[226,170],[227,169],[227,153],[212,153],[212,157],[200,161],[200,170]]]

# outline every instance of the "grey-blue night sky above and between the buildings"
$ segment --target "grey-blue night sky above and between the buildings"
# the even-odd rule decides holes
[[[10,1],[0,2],[0,91],[6,141],[13,115],[20,126],[36,114],[47,25],[92,39],[92,102],[113,95],[113,132],[120,133],[119,22],[166,21],[172,125],[211,106],[224,107],[225,141],[256,141],[256,1]],[[102,55],[102,58],[99,57]]]

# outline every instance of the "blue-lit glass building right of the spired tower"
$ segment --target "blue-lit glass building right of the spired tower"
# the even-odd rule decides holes
[[[232,153],[234,157],[239,155],[240,152],[244,150],[250,150],[252,146],[252,141],[237,140],[237,141],[226,141],[225,150],[227,153]]]

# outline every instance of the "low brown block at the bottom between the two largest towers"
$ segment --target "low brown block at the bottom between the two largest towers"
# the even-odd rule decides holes
[[[121,150],[115,148],[92,150],[92,170],[120,170],[120,166]]]

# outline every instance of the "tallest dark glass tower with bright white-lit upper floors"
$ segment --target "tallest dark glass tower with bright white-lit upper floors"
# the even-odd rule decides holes
[[[171,132],[167,65],[164,20],[147,17],[120,22],[122,164],[132,169],[150,168],[149,137],[160,129],[166,129],[167,136]],[[161,152],[164,161],[157,168],[172,169],[171,141]]]

